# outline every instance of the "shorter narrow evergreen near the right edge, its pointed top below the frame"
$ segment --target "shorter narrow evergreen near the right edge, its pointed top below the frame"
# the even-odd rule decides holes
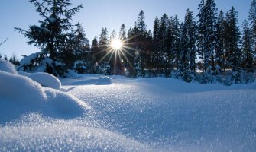
[[[253,71],[253,38],[250,28],[248,27],[248,21],[243,22],[243,37],[242,37],[242,53],[243,53],[243,67],[246,71]]]

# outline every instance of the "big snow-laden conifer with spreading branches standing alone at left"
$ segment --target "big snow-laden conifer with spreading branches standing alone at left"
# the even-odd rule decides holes
[[[71,5],[70,0],[43,0],[42,2],[30,0],[29,2],[34,4],[37,12],[44,20],[39,21],[40,26],[30,26],[28,31],[16,27],[15,30],[23,33],[30,40],[28,41],[29,45],[34,45],[42,49],[41,56],[37,56],[38,63],[31,63],[32,65],[42,66],[44,62],[49,61],[44,59],[49,58],[52,62],[47,62],[44,71],[63,76],[65,67],[60,61],[64,50],[66,50],[66,42],[70,36],[65,32],[72,30],[73,25],[70,24],[70,21],[73,15],[83,8],[83,5],[68,9]]]

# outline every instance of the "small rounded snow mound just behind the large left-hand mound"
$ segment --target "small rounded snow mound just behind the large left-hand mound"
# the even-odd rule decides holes
[[[52,74],[37,72],[37,73],[28,75],[28,78],[31,78],[33,81],[37,81],[43,87],[50,87],[56,90],[60,90],[60,87],[61,87],[60,80],[55,76],[53,76]]]

